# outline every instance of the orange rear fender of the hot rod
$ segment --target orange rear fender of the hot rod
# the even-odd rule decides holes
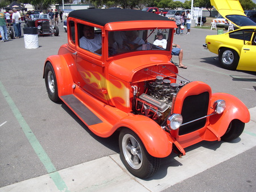
[[[44,68],[46,68],[47,62],[51,62],[52,67],[55,72],[57,87],[58,87],[58,95],[61,97],[62,95],[73,94],[73,78],[71,76],[71,71],[69,68],[73,68],[74,66],[68,66],[67,60],[63,55],[52,55],[46,59],[44,64]],[[44,78],[44,74],[43,74]]]

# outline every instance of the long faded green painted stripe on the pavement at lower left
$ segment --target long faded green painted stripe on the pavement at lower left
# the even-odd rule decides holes
[[[20,126],[22,127],[22,130],[24,134],[26,135],[28,141],[30,142],[32,148],[34,149],[36,155],[38,155],[40,161],[46,168],[48,174],[51,176],[53,182],[57,186],[57,188],[60,191],[68,191],[68,187],[63,181],[63,179],[60,177],[60,174],[56,171],[55,166],[52,164],[51,159],[48,157],[46,151],[44,151],[42,145],[39,143],[38,139],[36,139],[36,136],[32,132],[31,128],[28,126],[26,120],[23,118],[22,114],[20,114],[18,107],[16,107],[13,99],[11,99],[9,93],[6,91],[5,87],[3,86],[2,82],[0,81],[0,89],[5,97],[8,105],[10,106],[11,110],[13,111],[13,114],[15,118],[18,120]]]

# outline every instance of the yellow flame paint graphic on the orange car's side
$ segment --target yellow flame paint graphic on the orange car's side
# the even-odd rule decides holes
[[[98,91],[103,91],[106,89],[106,87],[108,87],[108,89],[106,89],[108,91],[108,96],[114,101],[115,105],[119,103],[119,105],[129,107],[130,90],[121,81],[109,81],[106,80],[106,78],[102,76],[102,74],[98,72],[90,72],[88,70],[80,73],[86,84],[89,84],[94,89],[97,89]]]

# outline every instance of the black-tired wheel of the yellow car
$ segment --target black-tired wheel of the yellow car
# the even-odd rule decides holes
[[[224,69],[235,70],[239,62],[239,55],[236,51],[229,48],[222,48],[218,53],[218,60]]]

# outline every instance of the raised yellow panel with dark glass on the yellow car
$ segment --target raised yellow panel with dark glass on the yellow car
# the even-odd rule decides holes
[[[210,0],[210,3],[225,19],[237,27],[256,26],[256,23],[247,18],[238,0]]]

